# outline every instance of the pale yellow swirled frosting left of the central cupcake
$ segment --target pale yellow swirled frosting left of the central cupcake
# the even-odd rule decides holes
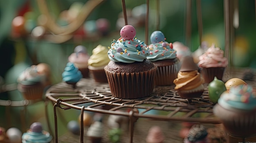
[[[106,66],[110,59],[108,58],[108,48],[102,45],[98,45],[92,50],[92,55],[88,60],[88,66],[102,67]]]

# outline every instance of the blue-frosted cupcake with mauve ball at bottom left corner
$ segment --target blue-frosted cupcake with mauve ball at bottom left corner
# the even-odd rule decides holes
[[[43,130],[41,123],[35,122],[30,125],[30,129],[22,134],[22,143],[50,143],[52,136]]]

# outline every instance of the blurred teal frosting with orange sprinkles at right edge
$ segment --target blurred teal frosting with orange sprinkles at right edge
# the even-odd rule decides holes
[[[249,85],[232,86],[222,93],[218,104],[228,110],[256,110],[256,90]]]

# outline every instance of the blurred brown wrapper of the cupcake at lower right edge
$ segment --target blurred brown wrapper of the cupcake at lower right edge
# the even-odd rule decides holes
[[[256,134],[256,111],[227,110],[218,103],[213,107],[213,113],[220,118],[225,129],[233,135],[250,136]]]

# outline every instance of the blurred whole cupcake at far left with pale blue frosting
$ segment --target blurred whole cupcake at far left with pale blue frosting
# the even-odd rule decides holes
[[[47,64],[32,65],[18,76],[18,90],[24,99],[42,99],[45,87],[51,84],[49,76],[50,69]]]

